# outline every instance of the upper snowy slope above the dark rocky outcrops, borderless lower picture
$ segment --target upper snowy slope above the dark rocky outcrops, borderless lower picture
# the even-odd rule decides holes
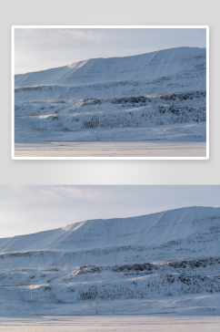
[[[9,261],[19,265],[19,257],[25,265],[143,263],[215,256],[219,250],[220,208],[208,207],[90,220],[53,231],[0,239],[0,259],[6,265]]]

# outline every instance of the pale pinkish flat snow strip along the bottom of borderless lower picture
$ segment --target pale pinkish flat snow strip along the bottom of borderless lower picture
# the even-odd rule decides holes
[[[217,316],[44,316],[0,321],[0,331],[5,332],[218,332],[220,324]]]

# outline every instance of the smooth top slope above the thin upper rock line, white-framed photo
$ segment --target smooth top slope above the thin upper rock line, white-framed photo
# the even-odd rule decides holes
[[[153,81],[183,72],[205,74],[205,48],[176,47],[133,57],[92,58],[65,67],[15,75],[15,87]],[[203,87],[204,88],[204,87]]]

